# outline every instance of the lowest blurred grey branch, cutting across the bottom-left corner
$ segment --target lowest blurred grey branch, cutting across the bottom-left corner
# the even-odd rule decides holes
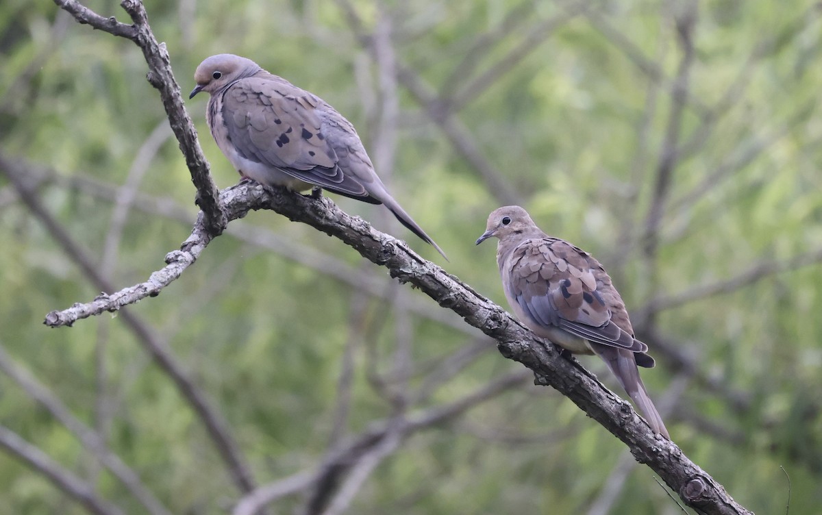
[[[25,462],[26,465],[46,476],[48,481],[51,481],[58,490],[67,494],[77,503],[82,504],[89,513],[95,513],[96,515],[125,515],[117,506],[100,499],[91,485],[82,481],[72,472],[60,467],[46,453],[21,439],[19,435],[4,425],[0,425],[0,447],[5,448],[9,453]]]

